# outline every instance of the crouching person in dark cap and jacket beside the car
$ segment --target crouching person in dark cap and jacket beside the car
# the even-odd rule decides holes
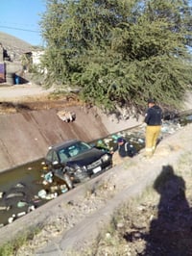
[[[118,138],[117,144],[118,153],[120,157],[133,157],[134,155],[137,154],[135,147],[129,141],[126,141],[124,138]]]

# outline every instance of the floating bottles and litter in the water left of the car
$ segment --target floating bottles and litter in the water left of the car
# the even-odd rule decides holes
[[[36,210],[48,200],[52,200],[61,193],[68,192],[65,184],[56,182],[52,172],[41,175],[42,188],[37,194],[28,191],[27,186],[18,183],[7,192],[0,192],[0,213],[2,213],[0,227],[12,223],[17,218]],[[7,219],[6,219],[7,217]]]

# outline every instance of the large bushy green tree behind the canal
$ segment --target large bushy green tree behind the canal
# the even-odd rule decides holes
[[[47,83],[80,87],[108,110],[177,107],[192,82],[191,8],[185,0],[47,0]]]

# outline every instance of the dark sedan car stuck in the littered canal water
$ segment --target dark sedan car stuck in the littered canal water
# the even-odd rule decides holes
[[[64,179],[67,175],[73,183],[79,183],[110,168],[112,155],[84,141],[70,140],[51,146],[45,164],[56,176]]]

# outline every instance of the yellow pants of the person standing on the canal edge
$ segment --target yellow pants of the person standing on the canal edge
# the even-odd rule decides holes
[[[145,136],[145,150],[147,155],[153,155],[156,150],[156,141],[160,134],[160,125],[146,127],[146,136]]]

